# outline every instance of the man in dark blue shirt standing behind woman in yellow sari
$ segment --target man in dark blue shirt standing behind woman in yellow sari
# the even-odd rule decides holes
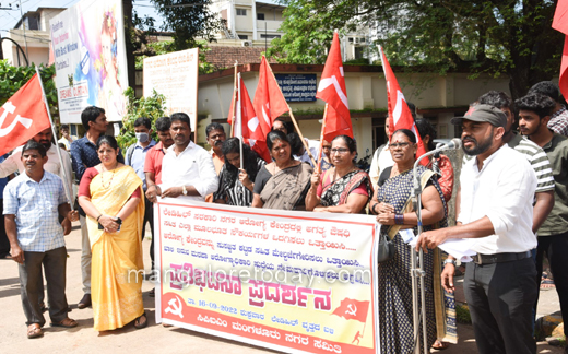
[[[85,137],[71,143],[71,163],[75,173],[75,181],[79,184],[83,174],[88,167],[94,167],[100,163],[96,151],[96,142],[100,135],[106,133],[108,122],[105,109],[91,106],[81,113],[81,122],[86,130]],[[125,163],[125,158],[118,153],[118,162]],[[85,295],[79,302],[80,309],[91,306],[91,241],[86,228],[85,213],[79,208],[81,215],[81,272],[83,279],[83,292]]]

